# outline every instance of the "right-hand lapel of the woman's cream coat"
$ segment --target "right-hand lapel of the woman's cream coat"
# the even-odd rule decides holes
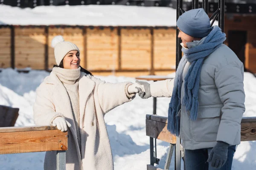
[[[81,73],[78,82],[79,87],[79,112],[80,112],[80,126],[83,127],[83,119],[84,119],[84,111],[85,105],[88,100],[88,97],[92,93],[95,82],[91,80],[89,77],[86,77],[84,74]]]

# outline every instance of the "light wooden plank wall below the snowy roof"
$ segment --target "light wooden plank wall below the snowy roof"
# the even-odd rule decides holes
[[[175,27],[1,26],[1,68],[51,70],[55,58],[50,44],[59,34],[79,47],[81,66],[93,73],[175,71]]]

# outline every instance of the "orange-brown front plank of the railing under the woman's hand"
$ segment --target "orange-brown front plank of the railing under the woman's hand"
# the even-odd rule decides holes
[[[0,154],[67,150],[67,132],[60,130],[4,132],[0,139]]]

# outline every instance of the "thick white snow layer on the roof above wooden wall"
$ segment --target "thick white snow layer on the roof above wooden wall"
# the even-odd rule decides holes
[[[0,5],[0,25],[176,26],[176,9],[121,5],[22,9]]]

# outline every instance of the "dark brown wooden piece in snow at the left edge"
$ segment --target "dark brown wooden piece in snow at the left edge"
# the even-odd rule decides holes
[[[19,116],[19,108],[0,105],[0,127],[14,126]]]

